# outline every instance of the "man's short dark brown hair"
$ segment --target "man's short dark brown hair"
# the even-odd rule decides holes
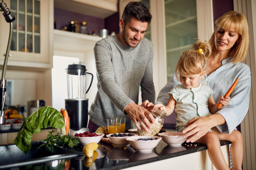
[[[150,24],[152,15],[144,4],[132,1],[129,2],[124,8],[124,13],[122,15],[124,24],[126,25],[129,21],[131,21],[131,18],[135,18],[139,21]]]

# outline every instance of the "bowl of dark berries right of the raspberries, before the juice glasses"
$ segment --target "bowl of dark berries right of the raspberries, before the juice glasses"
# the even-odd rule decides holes
[[[118,147],[129,146],[129,142],[125,140],[127,137],[135,136],[136,133],[114,133],[106,135],[108,139]]]

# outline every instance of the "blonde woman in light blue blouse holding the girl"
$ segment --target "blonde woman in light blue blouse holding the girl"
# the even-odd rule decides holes
[[[219,96],[227,92],[237,78],[239,81],[230,95],[229,105],[216,114],[194,118],[187,123],[187,128],[182,131],[183,137],[188,137],[186,142],[200,139],[215,126],[219,133],[232,133],[242,122],[249,108],[250,68],[241,63],[246,58],[249,47],[247,20],[242,13],[230,11],[218,18],[215,23],[216,28],[209,40],[212,55],[203,81],[215,91],[215,102]],[[179,83],[174,75],[160,91],[156,103],[166,105],[169,99],[168,92],[177,84]],[[151,104],[145,101],[142,106]]]

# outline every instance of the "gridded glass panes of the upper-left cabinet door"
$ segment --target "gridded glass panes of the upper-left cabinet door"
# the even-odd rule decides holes
[[[12,51],[40,53],[40,1],[10,0],[13,23]]]

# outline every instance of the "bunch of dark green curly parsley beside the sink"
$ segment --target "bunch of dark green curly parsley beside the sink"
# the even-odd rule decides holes
[[[55,132],[55,130],[52,130],[52,132],[50,131],[48,132],[49,132],[49,135],[47,135],[47,138],[43,140],[46,143],[39,146],[38,149],[47,150],[49,152],[55,153],[56,151],[56,147],[54,147],[55,145],[59,145],[68,149],[74,149],[74,147],[79,144],[79,141],[74,137],[70,137],[67,135],[60,136],[60,133],[58,133],[55,136],[52,134],[53,132]]]

